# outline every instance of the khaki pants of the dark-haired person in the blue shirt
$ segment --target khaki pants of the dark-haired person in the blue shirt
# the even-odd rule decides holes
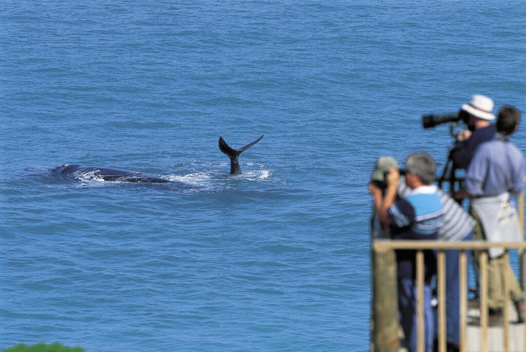
[[[471,208],[469,210],[476,224],[473,227],[473,241],[484,241],[484,230],[480,223],[479,215]],[[480,253],[482,251],[473,251],[474,263],[480,272]],[[504,307],[504,277],[508,282],[510,298],[513,302],[520,301],[522,289],[517,282],[513,273],[510,262],[504,259],[504,256],[490,258],[488,256],[488,306],[492,310],[502,309]]]

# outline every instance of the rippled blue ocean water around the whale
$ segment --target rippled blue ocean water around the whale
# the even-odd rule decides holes
[[[421,115],[526,109],[524,2],[0,8],[0,349],[365,351],[375,159],[440,171]],[[261,134],[230,176],[219,136]]]

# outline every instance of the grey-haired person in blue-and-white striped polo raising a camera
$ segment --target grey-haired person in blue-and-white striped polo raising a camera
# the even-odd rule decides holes
[[[391,230],[395,240],[436,240],[441,224],[442,203],[434,181],[435,162],[428,153],[410,154],[406,160],[406,184],[411,189],[396,200],[400,173],[389,167],[385,176],[387,188],[382,191],[370,183],[378,219]],[[410,352],[417,351],[417,282],[416,251],[397,250],[398,309],[400,325]],[[424,340],[426,351],[433,348],[434,319],[431,308],[431,278],[436,272],[433,251],[424,251]]]

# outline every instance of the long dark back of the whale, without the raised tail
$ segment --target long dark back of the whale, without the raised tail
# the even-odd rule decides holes
[[[172,182],[144,172],[136,172],[117,168],[99,168],[94,166],[85,166],[78,164],[58,165],[51,171],[59,175],[72,176],[76,179],[95,179],[108,182]]]

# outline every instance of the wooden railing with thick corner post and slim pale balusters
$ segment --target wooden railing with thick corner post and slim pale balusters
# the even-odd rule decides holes
[[[376,240],[372,243],[373,258],[383,257],[386,258],[392,257],[393,250],[417,250],[417,287],[418,287],[418,351],[424,351],[424,306],[423,306],[423,286],[424,286],[424,256],[423,250],[438,250],[438,274],[437,274],[437,287],[438,287],[438,350],[439,352],[446,351],[446,265],[445,265],[445,250],[456,249],[460,250],[460,346],[461,351],[466,352],[468,347],[467,340],[467,254],[466,250],[483,250],[480,257],[480,326],[481,326],[481,351],[488,351],[488,279],[487,279],[487,264],[488,264],[488,254],[485,250],[488,250],[492,247],[509,249],[517,249],[519,251],[520,258],[520,272],[522,276],[522,281],[524,278],[524,267],[526,267],[526,242],[506,242],[506,243],[488,243],[485,241],[470,241],[470,242],[439,242],[439,241],[389,241],[389,240]],[[509,260],[508,253],[505,254],[505,260]],[[378,264],[373,259],[373,266]],[[385,264],[385,263],[383,263]],[[383,265],[380,264],[380,265]],[[393,262],[388,266],[395,266]],[[374,316],[374,333],[373,333],[373,346],[376,351],[397,351],[397,336],[398,336],[398,327],[393,327],[393,322],[397,319],[396,315],[385,316],[385,314],[392,314],[392,311],[389,312],[387,309],[382,306],[389,305],[388,302],[385,302],[387,299],[393,302],[393,299],[397,299],[396,295],[393,294],[392,287],[396,285],[396,277],[383,276],[380,274],[379,277],[374,277],[376,275],[376,268],[373,268],[373,286],[376,283],[375,292],[373,292],[373,316]],[[383,268],[383,271],[386,269]],[[509,302],[509,292],[507,290],[508,282],[506,277],[504,277],[504,297],[505,302]],[[396,287],[396,286],[394,286]],[[381,292],[382,290],[389,290],[390,292]],[[523,286],[524,289],[524,286]],[[526,294],[526,292],[525,292]],[[377,299],[383,299],[383,302],[376,302]],[[380,304],[380,307],[376,308],[375,306]],[[394,301],[394,306],[396,301]],[[508,304],[504,305],[503,311],[503,351],[509,351],[509,308]],[[386,323],[387,322],[387,323]],[[386,329],[389,332],[386,332]],[[524,334],[522,334],[524,339],[524,346],[526,346],[526,324],[524,324]],[[383,340],[382,340],[383,339]]]

